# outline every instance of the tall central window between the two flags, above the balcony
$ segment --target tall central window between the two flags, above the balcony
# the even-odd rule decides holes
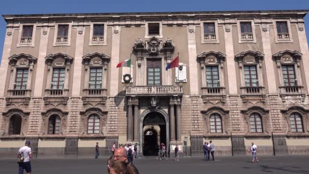
[[[147,60],[147,85],[161,85],[161,60]]]

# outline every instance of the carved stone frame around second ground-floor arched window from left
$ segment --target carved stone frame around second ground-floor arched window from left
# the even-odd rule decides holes
[[[66,112],[66,111],[62,111],[58,108],[50,108],[50,109],[47,109],[46,111],[44,112],[41,112],[41,115],[43,117],[43,133],[42,135],[48,135],[48,136],[61,136],[61,135],[64,135],[65,134],[65,131],[66,131],[66,118],[68,116],[69,112]],[[52,116],[52,115],[58,115],[60,117],[60,133],[59,134],[48,134],[48,121],[49,121],[49,118]]]

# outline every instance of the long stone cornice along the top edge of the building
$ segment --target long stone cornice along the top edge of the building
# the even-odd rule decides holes
[[[12,21],[87,21],[108,20],[114,22],[140,20],[190,21],[203,18],[246,18],[246,17],[298,17],[303,18],[309,10],[259,10],[259,11],[208,11],[208,12],[141,12],[141,13],[71,13],[71,14],[24,14],[2,15],[6,22]]]

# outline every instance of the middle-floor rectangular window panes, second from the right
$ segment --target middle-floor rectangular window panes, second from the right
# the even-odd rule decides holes
[[[259,86],[256,66],[243,66],[245,86]]]

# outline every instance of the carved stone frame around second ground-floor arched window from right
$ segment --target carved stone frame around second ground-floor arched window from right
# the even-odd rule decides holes
[[[248,134],[248,135],[269,135],[268,128],[267,128],[267,122],[268,122],[268,119],[269,119],[269,117],[268,117],[269,110],[264,109],[261,106],[251,106],[246,110],[241,110],[240,112],[243,114],[243,117],[244,117],[246,124],[247,124],[246,134]],[[261,117],[262,132],[251,132],[250,116],[253,113],[258,113]]]

